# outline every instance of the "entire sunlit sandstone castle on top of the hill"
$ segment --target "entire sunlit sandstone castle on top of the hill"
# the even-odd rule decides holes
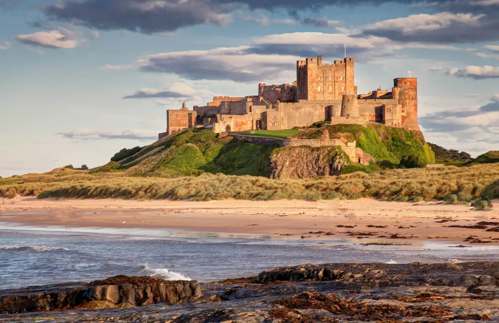
[[[323,64],[320,55],[308,57],[296,62],[296,81],[292,84],[260,83],[258,95],[218,96],[206,106],[194,106],[193,111],[185,102],[180,110],[168,110],[167,131],[159,137],[194,127],[226,133],[308,127],[319,121],[358,125],[376,122],[419,131],[417,79],[396,78],[391,92],[378,88],[357,94],[353,58]]]

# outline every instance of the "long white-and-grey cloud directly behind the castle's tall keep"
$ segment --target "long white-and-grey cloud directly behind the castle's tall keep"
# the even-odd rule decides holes
[[[142,72],[176,74],[188,80],[281,81],[295,78],[296,61],[303,57],[323,54],[325,63],[343,57],[345,43],[348,56],[362,61],[385,60],[404,48],[458,49],[440,44],[398,43],[376,36],[294,32],[255,38],[245,46],[147,55],[139,57],[134,65]]]

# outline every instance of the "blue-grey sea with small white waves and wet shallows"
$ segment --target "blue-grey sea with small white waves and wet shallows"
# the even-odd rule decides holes
[[[283,266],[497,260],[499,246],[193,232],[170,229],[26,226],[0,221],[0,289],[89,282],[115,275],[211,282]]]

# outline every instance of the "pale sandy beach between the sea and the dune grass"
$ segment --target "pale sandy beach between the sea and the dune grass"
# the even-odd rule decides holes
[[[499,244],[499,230],[493,231],[499,227],[498,209],[475,211],[469,205],[374,199],[190,202],[15,198],[0,204],[0,221],[42,227],[170,228],[297,239],[350,236],[387,244],[418,240],[459,242],[469,247]]]

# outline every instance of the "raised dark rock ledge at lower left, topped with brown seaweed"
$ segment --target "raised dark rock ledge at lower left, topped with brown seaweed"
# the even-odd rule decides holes
[[[197,281],[120,275],[91,283],[0,291],[0,314],[183,303],[200,297],[201,287]]]

